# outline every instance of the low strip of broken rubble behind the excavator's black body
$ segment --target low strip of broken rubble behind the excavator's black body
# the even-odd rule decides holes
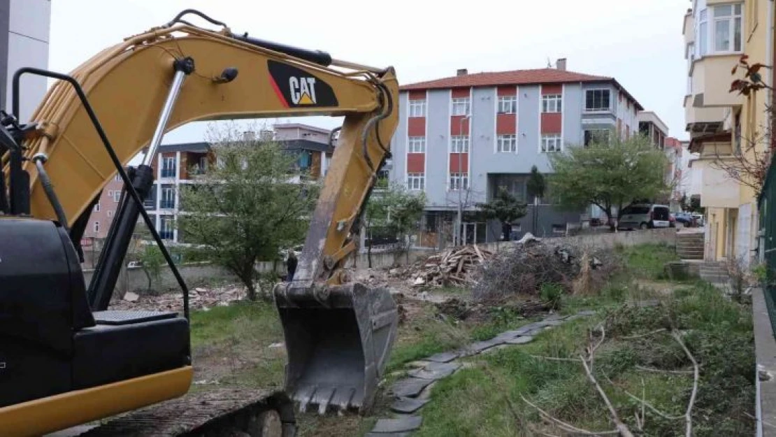
[[[189,308],[209,310],[212,307],[226,307],[236,300],[244,300],[248,294],[245,287],[230,284],[214,288],[197,287],[189,290]],[[126,293],[110,305],[111,310],[182,311],[183,293],[165,293],[158,296]]]

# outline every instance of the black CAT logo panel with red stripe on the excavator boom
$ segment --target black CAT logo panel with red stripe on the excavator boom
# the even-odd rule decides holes
[[[336,107],[331,85],[312,72],[279,61],[267,61],[269,84],[284,108]]]

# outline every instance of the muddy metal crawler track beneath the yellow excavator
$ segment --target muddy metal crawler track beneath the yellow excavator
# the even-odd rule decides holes
[[[283,392],[219,389],[123,414],[78,437],[295,437]]]

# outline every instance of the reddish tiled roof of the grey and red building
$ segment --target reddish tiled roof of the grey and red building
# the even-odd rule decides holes
[[[513,71],[487,71],[482,73],[471,73],[460,76],[450,76],[449,78],[434,79],[425,82],[415,82],[412,84],[401,85],[400,91],[410,91],[415,89],[438,89],[438,88],[468,88],[475,86],[495,86],[495,85],[538,85],[538,84],[558,84],[570,82],[611,82],[620,91],[636,103],[636,108],[642,111],[644,108],[633,98],[629,92],[622,88],[615,78],[608,76],[585,75],[574,71],[558,70],[557,68],[538,68],[534,70],[513,70]]]

